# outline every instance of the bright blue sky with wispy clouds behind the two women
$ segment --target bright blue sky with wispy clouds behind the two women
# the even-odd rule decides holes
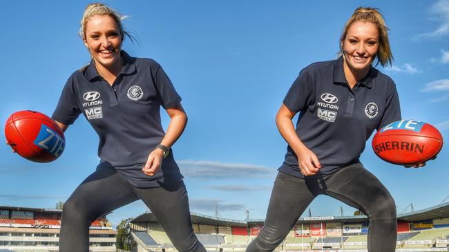
[[[66,79],[89,62],[77,36],[88,1],[6,1],[0,40],[0,121],[33,109],[51,115]],[[300,70],[335,59],[345,21],[360,5],[381,8],[390,28],[394,65],[380,70],[397,83],[403,118],[449,135],[449,1],[107,1],[130,17],[133,56],[159,62],[189,116],[173,147],[185,176],[191,211],[222,218],[265,218],[276,169],[287,144],[274,118]],[[168,119],[162,118],[164,125]],[[4,141],[4,136],[3,136]],[[0,145],[0,205],[52,208],[95,170],[98,137],[83,116],[66,132],[63,156],[33,163]],[[362,162],[390,190],[401,213],[449,196],[448,147],[423,169],[383,162],[370,142]],[[319,196],[314,216],[355,209]],[[117,209],[122,218],[142,202]]]

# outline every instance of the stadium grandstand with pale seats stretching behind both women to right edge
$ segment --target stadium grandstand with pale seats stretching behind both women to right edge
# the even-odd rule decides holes
[[[264,220],[227,220],[191,213],[193,229],[208,251],[245,251]],[[449,202],[397,218],[397,252],[449,251]],[[175,251],[153,213],[131,220],[137,252]],[[276,251],[366,252],[366,216],[300,218]]]

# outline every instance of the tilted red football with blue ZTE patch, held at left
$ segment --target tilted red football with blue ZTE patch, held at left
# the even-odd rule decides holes
[[[5,136],[17,154],[35,162],[51,162],[59,158],[66,146],[64,133],[55,121],[31,110],[12,114],[6,120]]]

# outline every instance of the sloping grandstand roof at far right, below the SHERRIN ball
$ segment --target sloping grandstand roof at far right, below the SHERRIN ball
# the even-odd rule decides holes
[[[410,213],[403,213],[398,215],[398,220],[407,222],[441,218],[449,218],[449,202],[438,204],[437,206],[429,207],[423,210],[412,211]]]

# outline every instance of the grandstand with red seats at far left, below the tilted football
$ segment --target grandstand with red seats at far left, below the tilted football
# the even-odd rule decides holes
[[[0,206],[0,251],[58,251],[59,209]],[[90,224],[90,251],[116,251],[116,232],[106,215]]]

